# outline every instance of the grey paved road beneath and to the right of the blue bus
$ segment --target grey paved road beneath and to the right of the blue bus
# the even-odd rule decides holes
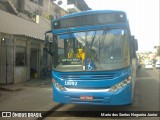
[[[158,69],[154,70],[144,70],[141,68],[140,75],[136,80],[136,91],[134,97],[134,103],[130,106],[94,106],[94,105],[73,105],[68,104],[57,109],[57,111],[160,111],[160,71]],[[74,112],[76,113],[76,112]],[[87,114],[87,112],[86,112]],[[94,112],[93,112],[94,114]],[[52,114],[55,116],[56,113]],[[70,120],[75,119],[71,117],[79,116],[78,112],[76,114],[66,113],[65,116],[68,117],[54,117],[54,120]],[[53,118],[45,118],[45,120],[50,120]],[[76,118],[76,119],[102,119],[102,118]],[[112,118],[107,118],[112,119]],[[134,118],[133,118],[134,119]],[[141,119],[154,119],[159,120],[159,118],[141,118]],[[115,120],[115,118],[114,118]]]

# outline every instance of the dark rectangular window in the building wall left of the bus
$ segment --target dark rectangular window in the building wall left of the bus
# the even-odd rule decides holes
[[[16,47],[16,66],[26,66],[25,47]]]

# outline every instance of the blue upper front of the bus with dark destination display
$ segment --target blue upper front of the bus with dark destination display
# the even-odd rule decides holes
[[[129,29],[126,13],[118,10],[88,10],[67,14],[52,21],[52,33],[104,29],[106,26]]]

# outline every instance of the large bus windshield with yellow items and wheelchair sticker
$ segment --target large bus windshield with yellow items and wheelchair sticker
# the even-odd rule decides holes
[[[57,35],[58,71],[104,71],[128,67],[126,29],[102,29]]]

